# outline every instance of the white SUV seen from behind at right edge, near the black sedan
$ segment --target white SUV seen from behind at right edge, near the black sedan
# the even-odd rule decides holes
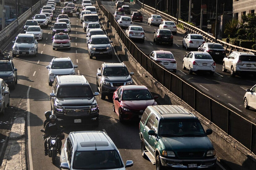
[[[250,73],[256,76],[256,56],[252,52],[233,51],[223,59],[222,71],[230,71],[231,76],[236,73]]]

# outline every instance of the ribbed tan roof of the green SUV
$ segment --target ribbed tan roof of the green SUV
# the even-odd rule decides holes
[[[190,111],[180,105],[156,105],[148,106],[151,111],[154,111],[160,119],[197,119]]]

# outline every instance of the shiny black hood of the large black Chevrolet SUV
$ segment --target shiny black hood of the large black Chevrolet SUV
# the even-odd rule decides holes
[[[61,106],[91,106],[96,104],[95,97],[79,97],[79,98],[58,98],[56,99],[56,104]]]

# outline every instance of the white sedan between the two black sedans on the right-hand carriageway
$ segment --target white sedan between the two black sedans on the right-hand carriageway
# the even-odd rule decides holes
[[[202,35],[187,34],[185,37],[183,37],[182,47],[186,47],[186,50],[188,50],[189,48],[198,48],[198,46],[201,46],[203,43],[205,43],[205,41]]]

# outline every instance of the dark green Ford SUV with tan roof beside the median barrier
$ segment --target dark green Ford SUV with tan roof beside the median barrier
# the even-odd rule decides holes
[[[148,106],[139,123],[141,153],[157,170],[215,169],[215,150],[198,118],[182,106]]]

